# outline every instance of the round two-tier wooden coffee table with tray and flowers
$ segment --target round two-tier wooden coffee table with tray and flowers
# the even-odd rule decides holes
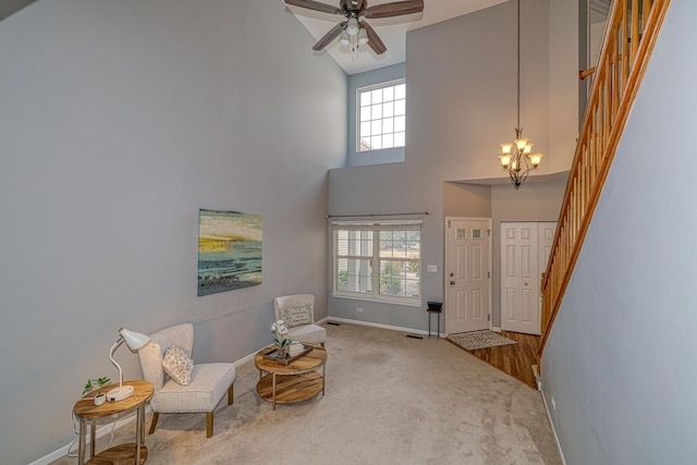
[[[273,348],[272,345],[262,348],[254,357],[254,364],[259,368],[257,394],[271,402],[273,409],[277,403],[303,402],[320,392],[325,395],[327,351],[321,345],[311,345],[313,350],[288,365],[264,358],[264,354]],[[316,371],[319,367],[322,368],[321,374]]]

